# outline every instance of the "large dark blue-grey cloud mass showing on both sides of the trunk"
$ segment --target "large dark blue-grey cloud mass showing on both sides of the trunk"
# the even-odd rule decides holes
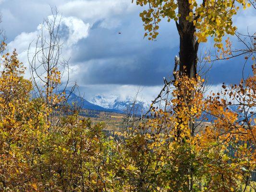
[[[142,23],[136,15],[130,15],[114,29],[95,24],[90,35],[81,40],[73,53],[72,63],[79,63],[86,71],[77,77],[81,84],[162,84],[163,77],[168,77],[173,69],[173,58],[178,55],[178,35],[175,26],[162,25],[157,41],[143,39]],[[118,32],[122,34],[118,34]],[[169,32],[169,34],[168,34]],[[208,44],[201,44],[204,49]],[[242,46],[238,44],[238,46]],[[242,48],[242,47],[241,47]],[[208,82],[236,83],[242,78],[244,58],[216,61],[207,73]],[[206,68],[210,67],[207,64]],[[245,73],[250,66],[245,66]]]

